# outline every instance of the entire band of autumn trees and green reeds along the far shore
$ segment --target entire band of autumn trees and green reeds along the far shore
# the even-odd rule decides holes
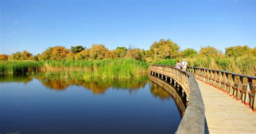
[[[246,45],[227,47],[225,53],[211,46],[201,47],[199,52],[193,48],[181,51],[180,46],[170,39],[155,41],[150,50],[141,50],[132,46],[108,50],[103,44],[93,44],[91,48],[83,46],[72,46],[70,49],[63,46],[49,47],[37,55],[27,51],[11,55],[0,54],[1,63],[9,61],[7,62],[9,64],[3,62],[4,64],[0,65],[0,73],[24,74],[30,68],[32,70],[46,68],[85,70],[87,77],[134,77],[138,75],[138,72],[145,72],[146,62],[175,65],[177,59],[184,58],[190,66],[227,70],[254,76],[256,74],[256,47],[250,48]],[[27,62],[18,61],[31,62],[28,65]]]

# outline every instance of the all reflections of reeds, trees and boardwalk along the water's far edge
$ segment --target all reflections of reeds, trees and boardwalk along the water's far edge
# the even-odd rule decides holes
[[[0,83],[6,82],[23,82],[29,83],[33,79],[39,80],[48,89],[62,91],[69,86],[82,86],[87,90],[91,90],[93,94],[104,94],[107,89],[125,89],[138,90],[144,88],[149,79],[150,93],[160,100],[169,100],[173,98],[176,102],[177,108],[181,117],[184,115],[186,109],[185,98],[181,98],[176,89],[170,84],[151,75],[143,75],[134,79],[100,79],[91,78],[85,79],[83,72],[42,72],[29,75],[8,75],[0,76]],[[164,89],[164,90],[163,90]]]

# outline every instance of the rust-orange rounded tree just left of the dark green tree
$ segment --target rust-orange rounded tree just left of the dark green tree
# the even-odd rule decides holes
[[[69,54],[69,51],[63,46],[53,47],[51,53],[51,60],[65,60],[66,55]]]

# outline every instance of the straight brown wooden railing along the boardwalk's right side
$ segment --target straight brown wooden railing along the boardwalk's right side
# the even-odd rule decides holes
[[[203,81],[256,111],[256,77],[235,74],[224,70],[187,67],[196,79]]]

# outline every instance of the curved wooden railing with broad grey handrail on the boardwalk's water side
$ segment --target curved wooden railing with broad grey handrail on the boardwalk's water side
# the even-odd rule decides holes
[[[176,133],[204,133],[205,107],[193,74],[169,65],[149,65],[149,71],[173,85],[176,83],[187,97],[188,105]]]

